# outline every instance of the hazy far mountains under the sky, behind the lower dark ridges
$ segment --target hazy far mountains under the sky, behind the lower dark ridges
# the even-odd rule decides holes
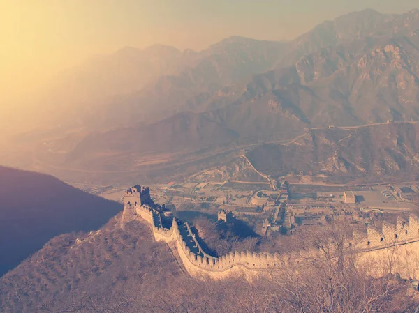
[[[68,104],[81,125],[105,128],[186,110],[221,115],[237,128],[228,118],[230,107],[259,111],[269,100],[277,106],[275,125],[284,118],[316,125],[414,119],[418,29],[418,10],[364,10],[287,43],[231,37],[201,52],[126,47],[64,72],[46,102],[66,110]],[[248,115],[240,123],[258,123]]]

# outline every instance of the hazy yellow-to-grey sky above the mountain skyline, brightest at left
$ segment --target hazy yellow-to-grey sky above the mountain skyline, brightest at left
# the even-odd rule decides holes
[[[1,0],[0,109],[55,72],[126,45],[203,49],[232,35],[292,39],[351,11],[416,7],[419,0]]]

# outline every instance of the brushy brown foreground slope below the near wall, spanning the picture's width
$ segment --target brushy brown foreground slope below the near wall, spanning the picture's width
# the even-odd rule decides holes
[[[297,313],[304,307],[320,313],[324,305],[322,302],[317,309],[318,298],[330,298],[330,293],[322,291],[330,286],[330,275],[324,274],[328,273],[326,268],[332,267],[335,273],[333,262],[329,261],[332,266],[326,267],[326,261],[315,259],[315,266],[304,268],[301,276],[291,266],[288,272],[291,275],[272,273],[270,280],[266,277],[251,282],[242,277],[196,280],[179,267],[172,254],[175,249],[152,241],[145,224],[133,220],[122,229],[119,217],[89,234],[53,238],[0,277],[0,311]],[[303,242],[301,238],[295,240]],[[287,247],[284,242],[291,246],[286,239],[278,241],[277,246]],[[246,245],[251,246],[252,242]],[[304,245],[311,245],[307,237]],[[332,294],[333,303],[344,307],[344,311],[360,312],[371,307],[383,313],[407,313],[418,305],[417,292],[402,282],[374,280],[349,266],[344,270],[350,273],[345,277],[351,280],[337,280],[339,284],[346,282],[346,287],[339,289],[336,296]],[[318,293],[311,297],[313,286]],[[332,310],[337,311],[335,307]]]

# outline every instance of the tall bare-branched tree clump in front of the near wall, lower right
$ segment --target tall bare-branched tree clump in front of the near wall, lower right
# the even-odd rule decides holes
[[[331,224],[305,236],[314,249],[302,254],[304,265],[288,266],[272,277],[288,312],[385,312],[397,284],[372,277],[358,263],[346,225]]]

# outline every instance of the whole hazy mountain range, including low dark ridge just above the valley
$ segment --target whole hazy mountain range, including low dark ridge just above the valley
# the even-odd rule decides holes
[[[281,142],[328,125],[418,121],[418,62],[419,10],[350,13],[290,42],[231,37],[200,52],[125,47],[55,79],[43,103],[56,128],[38,138],[48,151],[36,155],[87,168],[98,155],[115,161],[119,153],[120,171],[138,161],[135,153],[192,153]]]

